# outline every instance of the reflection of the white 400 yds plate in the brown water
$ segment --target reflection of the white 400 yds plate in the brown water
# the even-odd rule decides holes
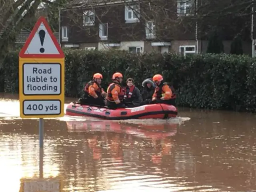
[[[60,192],[59,180],[35,180],[24,182],[23,192]]]

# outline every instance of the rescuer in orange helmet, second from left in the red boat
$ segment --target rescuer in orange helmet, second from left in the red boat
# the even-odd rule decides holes
[[[124,104],[124,90],[121,87],[123,80],[123,75],[119,72],[116,72],[112,75],[112,83],[108,86],[107,89],[107,106],[108,108],[126,108]]]

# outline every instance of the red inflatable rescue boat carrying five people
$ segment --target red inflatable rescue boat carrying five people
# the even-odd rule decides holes
[[[71,102],[66,108],[66,115],[91,116],[108,120],[166,119],[176,117],[177,114],[176,107],[166,104],[150,104],[134,108],[120,108],[113,110]]]

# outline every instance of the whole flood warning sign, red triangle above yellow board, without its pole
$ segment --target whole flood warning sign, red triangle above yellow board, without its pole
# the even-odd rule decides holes
[[[64,53],[40,17],[19,54],[21,118],[64,116]]]

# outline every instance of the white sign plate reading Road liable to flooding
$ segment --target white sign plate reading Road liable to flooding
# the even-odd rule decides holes
[[[24,63],[22,71],[24,95],[61,94],[61,65],[59,63]]]

